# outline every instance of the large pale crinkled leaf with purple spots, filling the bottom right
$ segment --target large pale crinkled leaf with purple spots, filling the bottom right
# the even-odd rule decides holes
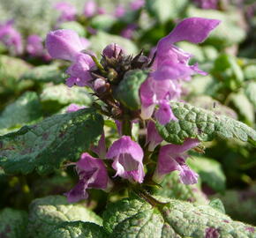
[[[109,237],[214,237],[206,236],[215,231],[215,237],[255,237],[250,225],[233,221],[209,205],[193,205],[188,202],[165,199],[168,202],[157,209],[143,200],[125,198],[109,205],[103,213],[103,225]]]

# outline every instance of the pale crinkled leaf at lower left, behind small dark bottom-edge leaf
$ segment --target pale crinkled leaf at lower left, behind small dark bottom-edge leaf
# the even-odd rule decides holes
[[[84,205],[68,203],[66,197],[37,198],[29,206],[27,231],[29,237],[44,238],[48,237],[48,234],[64,221],[78,220],[102,225],[102,219],[94,212]]]

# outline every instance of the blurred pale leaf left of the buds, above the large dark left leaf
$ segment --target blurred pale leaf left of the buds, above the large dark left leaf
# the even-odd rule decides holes
[[[92,102],[86,88],[79,86],[68,87],[65,85],[46,86],[41,92],[40,99],[44,107],[54,104],[68,105],[71,103],[89,106]]]

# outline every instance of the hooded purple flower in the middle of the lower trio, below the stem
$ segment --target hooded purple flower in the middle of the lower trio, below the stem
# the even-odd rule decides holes
[[[143,182],[143,151],[139,144],[130,137],[123,136],[110,146],[107,159],[114,160],[112,167],[117,170],[117,175],[131,182]]]

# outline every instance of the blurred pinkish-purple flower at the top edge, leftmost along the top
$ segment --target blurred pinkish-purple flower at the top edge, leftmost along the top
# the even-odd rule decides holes
[[[54,8],[57,11],[60,11],[60,16],[58,18],[59,22],[72,21],[76,19],[77,10],[72,4],[59,2],[54,5]]]

